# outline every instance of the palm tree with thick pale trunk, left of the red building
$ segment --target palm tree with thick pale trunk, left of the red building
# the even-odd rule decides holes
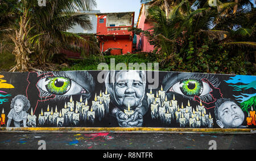
[[[77,16],[77,10],[90,10],[96,6],[95,0],[48,0],[46,6],[38,6],[37,0],[21,0],[18,5],[18,26],[6,27],[8,32],[1,37],[10,38],[14,44],[12,53],[16,65],[10,71],[28,71],[32,56],[39,63],[45,63],[52,53],[63,46],[85,48],[90,42],[82,37],[65,32],[78,23],[90,28],[86,16]],[[13,14],[10,12],[10,14]],[[17,13],[16,13],[17,14]],[[97,50],[97,46],[95,46]]]

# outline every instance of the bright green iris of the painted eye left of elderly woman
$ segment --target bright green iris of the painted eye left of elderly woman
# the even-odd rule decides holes
[[[71,80],[64,77],[47,78],[47,82],[47,90],[54,95],[63,95],[67,93],[71,87]]]

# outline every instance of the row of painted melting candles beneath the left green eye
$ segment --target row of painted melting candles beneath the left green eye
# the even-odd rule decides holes
[[[38,124],[39,126],[47,125],[56,125],[57,127],[61,127],[63,125],[78,125],[80,120],[82,121],[90,121],[94,122],[97,117],[101,120],[104,117],[105,113],[109,112],[109,103],[110,103],[110,95],[106,92],[100,92],[100,95],[95,95],[94,101],[92,101],[92,107],[90,108],[88,105],[88,101],[86,99],[85,103],[82,102],[82,96],[80,101],[76,101],[76,109],[75,102],[71,99],[68,103],[65,103],[64,108],[58,112],[57,106],[55,108],[55,112],[51,108],[49,111],[49,105],[47,107],[47,112],[43,112],[41,110],[40,115],[38,116]],[[74,111],[75,109],[75,111]],[[27,125],[30,127],[36,126],[36,116],[33,115],[31,108],[31,115],[27,117]]]

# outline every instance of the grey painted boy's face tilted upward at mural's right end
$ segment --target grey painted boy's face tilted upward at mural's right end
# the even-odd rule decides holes
[[[218,107],[218,118],[217,124],[222,128],[237,128],[242,125],[245,115],[236,103],[225,101]]]

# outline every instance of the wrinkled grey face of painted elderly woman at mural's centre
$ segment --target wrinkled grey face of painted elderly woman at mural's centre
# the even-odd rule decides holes
[[[142,78],[138,71],[121,71],[116,75],[115,97],[118,104],[131,109],[138,107],[144,95]]]

